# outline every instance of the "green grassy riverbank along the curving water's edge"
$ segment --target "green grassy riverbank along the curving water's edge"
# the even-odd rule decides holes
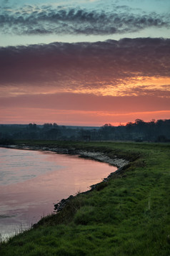
[[[44,217],[36,227],[1,243],[1,256],[170,255],[169,144],[34,141],[29,145],[86,148],[131,163],[108,183],[78,194],[59,214]]]

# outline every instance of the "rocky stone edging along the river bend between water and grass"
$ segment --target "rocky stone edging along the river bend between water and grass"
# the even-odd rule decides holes
[[[90,191],[93,191],[96,189],[99,184],[107,182],[111,176],[120,176],[124,173],[125,166],[129,164],[129,161],[126,161],[122,158],[117,158],[117,156],[114,156],[114,158],[110,158],[104,153],[96,152],[96,151],[85,151],[85,150],[79,150],[75,148],[50,148],[50,147],[41,147],[41,146],[17,146],[17,145],[10,145],[10,146],[4,146],[0,145],[1,148],[15,148],[15,149],[23,149],[23,150],[34,150],[34,151],[51,151],[56,153],[62,153],[62,154],[69,154],[69,155],[76,155],[83,158],[89,158],[96,161],[101,161],[104,163],[109,163],[112,166],[116,166],[118,169],[111,174],[109,174],[108,177],[104,178],[103,181],[101,181],[98,184],[91,185],[91,189],[89,191],[82,192],[81,194],[87,194]],[[59,212],[61,211],[66,204],[73,198],[74,196],[69,196],[67,199],[61,199],[61,201],[58,204],[54,204],[54,211]]]

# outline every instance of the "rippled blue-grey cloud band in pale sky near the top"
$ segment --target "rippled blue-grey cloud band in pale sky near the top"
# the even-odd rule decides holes
[[[27,6],[16,11],[1,10],[0,24],[4,33],[104,35],[169,27],[170,19],[169,15],[154,12],[133,14],[127,6],[115,6],[112,11]]]

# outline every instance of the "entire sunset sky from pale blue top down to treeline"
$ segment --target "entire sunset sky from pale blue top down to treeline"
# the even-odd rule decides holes
[[[170,119],[169,0],[0,0],[0,123]]]

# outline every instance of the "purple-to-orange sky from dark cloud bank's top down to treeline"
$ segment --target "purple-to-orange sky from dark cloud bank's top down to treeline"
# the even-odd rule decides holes
[[[37,44],[0,54],[0,123],[170,118],[170,39]]]

